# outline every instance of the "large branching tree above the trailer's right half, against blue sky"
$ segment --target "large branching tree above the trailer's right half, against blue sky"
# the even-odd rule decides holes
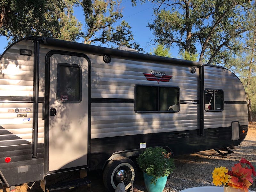
[[[155,5],[154,20],[148,24],[154,41],[167,47],[178,46],[180,54],[188,52],[192,56],[199,52],[199,61],[208,64],[226,59],[214,60],[220,59],[223,51],[236,49],[234,39],[245,32],[243,12],[251,7],[246,0],[148,1]],[[132,3],[136,5],[136,0]],[[198,44],[201,50],[197,50]]]

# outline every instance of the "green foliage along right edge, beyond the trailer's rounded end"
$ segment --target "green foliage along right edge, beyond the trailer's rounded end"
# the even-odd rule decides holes
[[[256,115],[256,2],[247,7],[243,16],[245,35],[234,39],[234,47],[225,50],[218,60],[233,71],[244,85],[247,97],[251,100],[251,110]],[[224,55],[225,54],[225,55]],[[225,58],[225,59],[224,59]],[[218,62],[218,60],[216,62]]]

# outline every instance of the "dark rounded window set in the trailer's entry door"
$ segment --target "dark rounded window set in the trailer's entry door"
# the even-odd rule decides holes
[[[81,102],[81,68],[79,65],[59,63],[57,66],[57,101]]]

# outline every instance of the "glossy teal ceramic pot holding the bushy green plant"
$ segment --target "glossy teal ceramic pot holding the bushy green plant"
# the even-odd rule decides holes
[[[156,185],[154,183],[150,183],[152,176],[149,176],[147,173],[143,172],[143,178],[148,192],[163,192],[167,176],[161,177],[156,181]]]

